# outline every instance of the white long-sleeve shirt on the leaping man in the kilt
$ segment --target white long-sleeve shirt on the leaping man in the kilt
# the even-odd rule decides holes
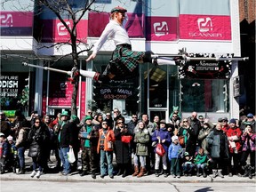
[[[128,33],[125,28],[119,25],[115,20],[110,20],[106,28],[103,30],[98,42],[94,44],[92,53],[97,54],[103,44],[109,39],[113,39],[116,45],[131,44]]]

